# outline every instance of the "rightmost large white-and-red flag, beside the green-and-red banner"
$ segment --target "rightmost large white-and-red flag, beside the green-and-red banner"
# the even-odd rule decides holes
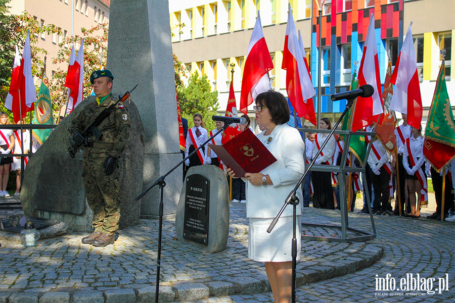
[[[419,75],[417,74],[413,32],[411,31],[412,25],[413,23],[411,22],[390,79],[390,82],[395,84],[390,109],[407,114],[407,124],[418,129],[422,122],[423,107]]]

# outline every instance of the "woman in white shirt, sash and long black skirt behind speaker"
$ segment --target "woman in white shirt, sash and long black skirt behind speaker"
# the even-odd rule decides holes
[[[321,129],[332,129],[330,119],[324,117],[319,122]],[[317,151],[322,146],[329,134],[319,133],[314,138],[314,146],[312,158],[316,158],[314,164],[321,165],[332,165],[332,157],[335,153],[335,138],[331,136],[329,142],[324,146],[321,154],[317,154]],[[335,199],[332,185],[335,185],[332,180],[332,173],[330,172],[311,172],[311,179],[313,182],[313,207],[334,210]]]

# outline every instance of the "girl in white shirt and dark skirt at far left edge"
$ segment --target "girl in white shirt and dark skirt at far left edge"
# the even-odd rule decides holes
[[[0,124],[10,124],[8,115],[5,112],[0,112]],[[14,149],[14,135],[12,129],[0,129],[0,152],[3,155],[11,153]],[[6,190],[8,178],[10,176],[10,165],[13,163],[13,157],[2,157],[0,160],[0,197],[9,197],[10,194]]]

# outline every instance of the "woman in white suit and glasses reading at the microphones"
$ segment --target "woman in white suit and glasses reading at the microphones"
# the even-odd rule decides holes
[[[292,289],[292,233],[297,237],[297,260],[300,259],[300,226],[302,208],[297,207],[297,224],[293,226],[293,208],[284,210],[270,233],[267,228],[281,210],[289,192],[303,175],[305,144],[297,129],[287,125],[290,111],[286,98],[278,91],[268,90],[256,97],[253,107],[256,122],[265,127],[257,135],[277,159],[260,173],[246,173],[249,218],[248,257],[265,262],[275,303],[291,301]],[[228,168],[230,175],[235,175]],[[297,196],[301,200],[302,191]]]

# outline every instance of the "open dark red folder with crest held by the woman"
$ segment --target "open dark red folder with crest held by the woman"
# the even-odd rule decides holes
[[[223,145],[208,145],[236,173],[236,177],[245,177],[245,173],[259,173],[277,161],[251,129],[244,130]]]

